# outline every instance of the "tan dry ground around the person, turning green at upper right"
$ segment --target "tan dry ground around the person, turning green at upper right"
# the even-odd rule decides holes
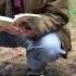
[[[48,69],[49,76],[76,76],[76,9],[75,5],[76,0],[69,1],[69,15],[71,20],[68,28],[71,30],[72,36],[72,51],[68,53],[68,58],[66,60],[60,59],[55,63],[49,64]],[[25,76],[26,71],[26,59],[25,54],[15,58],[14,60],[10,60],[11,55],[9,55],[8,48],[0,48],[0,73],[7,76]],[[11,49],[12,50],[12,49]],[[9,61],[9,63],[4,63]],[[9,66],[7,66],[9,64]],[[8,68],[10,67],[10,68]],[[1,75],[0,75],[1,76]]]

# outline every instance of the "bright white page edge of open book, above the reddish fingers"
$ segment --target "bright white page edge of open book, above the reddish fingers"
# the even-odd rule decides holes
[[[14,18],[7,17],[7,16],[0,16],[0,26],[9,27],[9,26],[11,26],[11,24],[14,23],[14,21],[18,20],[20,17],[24,17],[24,16],[41,17],[38,14],[30,14],[30,13],[14,15]]]

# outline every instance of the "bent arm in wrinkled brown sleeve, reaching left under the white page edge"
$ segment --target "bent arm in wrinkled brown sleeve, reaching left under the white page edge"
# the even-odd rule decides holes
[[[15,23],[18,25],[21,22],[27,21],[30,28],[38,30],[40,35],[58,30],[68,22],[68,4],[67,0],[46,0],[45,10],[38,13],[40,17],[21,17]]]

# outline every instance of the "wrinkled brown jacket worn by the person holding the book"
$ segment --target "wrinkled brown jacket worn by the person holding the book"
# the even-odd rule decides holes
[[[64,26],[68,22],[67,0],[24,0],[24,12],[42,16],[40,22],[42,21],[45,25],[38,23],[35,25],[41,35],[59,29],[58,35],[65,50],[71,50],[69,30]],[[12,15],[11,0],[0,0],[0,13],[5,16]]]

